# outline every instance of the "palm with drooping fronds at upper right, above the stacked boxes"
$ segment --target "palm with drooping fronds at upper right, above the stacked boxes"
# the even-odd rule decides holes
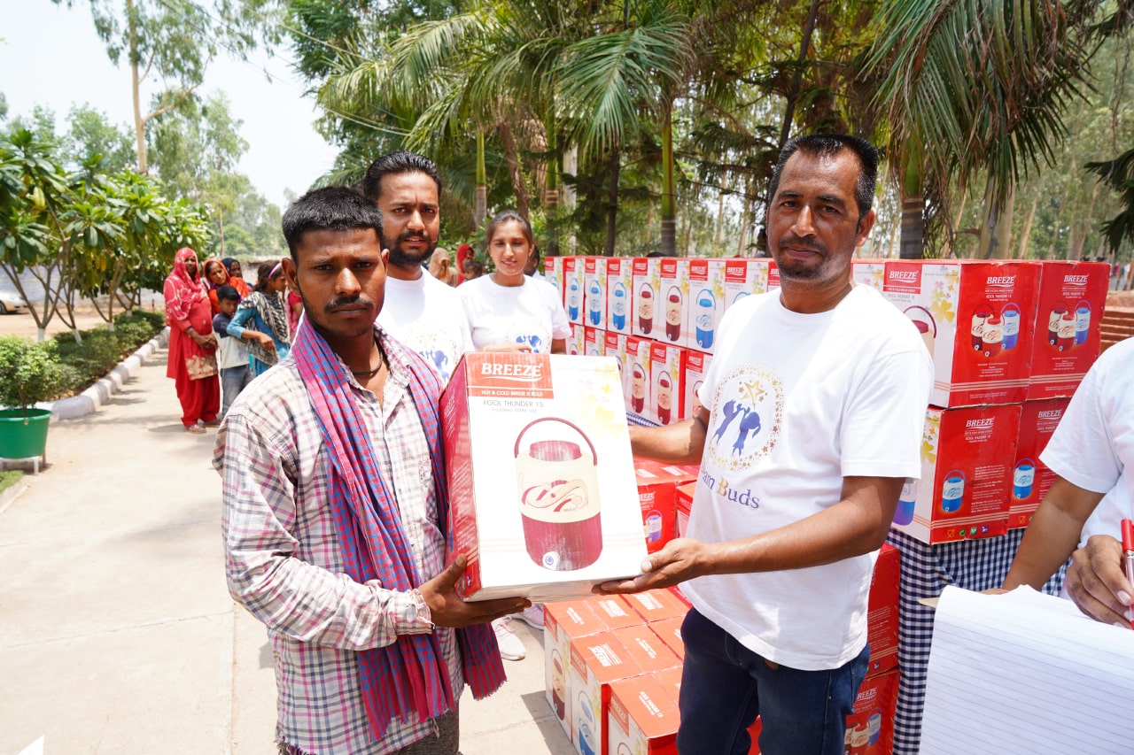
[[[1129,0],[1095,24],[1103,2],[883,0],[862,79],[879,82],[890,160],[903,195],[903,256],[921,256],[923,192],[987,175],[979,256],[1009,256],[1013,187],[1052,163],[1060,120],[1089,87],[1100,34],[1122,27]]]

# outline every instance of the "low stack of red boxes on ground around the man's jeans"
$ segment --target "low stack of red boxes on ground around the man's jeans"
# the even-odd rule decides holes
[[[848,752],[855,755],[882,755],[892,748],[898,558],[898,551],[886,545],[874,565],[868,614],[870,669],[854,714],[847,718]],[[545,604],[545,695],[581,755],[677,753],[685,658],[680,627],[687,611],[688,603],[676,588]],[[750,753],[756,754],[759,719],[750,731]]]

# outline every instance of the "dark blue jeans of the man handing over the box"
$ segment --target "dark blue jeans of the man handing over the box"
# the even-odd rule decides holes
[[[692,609],[682,625],[682,755],[746,755],[761,716],[763,755],[843,755],[870,650],[830,671],[801,671],[753,653]]]

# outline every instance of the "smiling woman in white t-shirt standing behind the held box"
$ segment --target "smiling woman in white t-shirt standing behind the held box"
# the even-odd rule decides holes
[[[555,286],[524,274],[535,249],[532,226],[515,210],[488,229],[496,272],[457,288],[477,350],[566,354],[570,323]]]

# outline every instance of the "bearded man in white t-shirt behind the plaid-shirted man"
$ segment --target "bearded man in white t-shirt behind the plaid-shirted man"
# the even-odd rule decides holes
[[[382,211],[382,246],[390,251],[378,324],[448,382],[460,355],[473,350],[473,341],[456,289],[422,268],[441,231],[437,166],[413,152],[383,155],[366,170],[363,192]]]

